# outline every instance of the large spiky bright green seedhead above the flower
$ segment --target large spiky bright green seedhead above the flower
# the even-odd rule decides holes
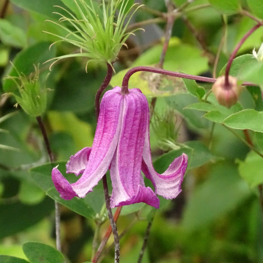
[[[48,60],[47,62],[54,60],[50,65],[50,69],[58,60],[69,57],[89,58],[86,64],[86,71],[87,65],[90,61],[112,64],[112,62],[117,59],[118,53],[122,46],[125,45],[127,38],[138,30],[135,29],[131,32],[127,32],[127,27],[131,17],[140,6],[137,6],[127,21],[125,21],[131,9],[137,4],[134,4],[128,9],[128,1],[126,0],[111,0],[108,4],[105,4],[105,1],[103,0],[102,4],[98,7],[101,8],[101,10],[99,10],[94,7],[92,0],[90,0],[90,4],[87,4],[84,0],[73,1],[77,6],[81,19],[78,19],[65,8],[55,6],[66,12],[68,16],[54,12],[61,16],[59,22],[47,21],[63,28],[65,30],[65,36],[59,36],[50,32],[45,33],[60,38],[59,41],[56,41],[53,44],[66,41],[78,47],[80,51],[79,53],[62,55]],[[99,11],[102,12],[101,16],[98,15]],[[62,25],[63,22],[70,23],[74,30],[69,29],[66,25]]]

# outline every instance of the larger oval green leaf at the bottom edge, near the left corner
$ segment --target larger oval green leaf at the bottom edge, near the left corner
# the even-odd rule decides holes
[[[65,257],[54,247],[39,242],[27,242],[22,246],[31,263],[64,263]]]

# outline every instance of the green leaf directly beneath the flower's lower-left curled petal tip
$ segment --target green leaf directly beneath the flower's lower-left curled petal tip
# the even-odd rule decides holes
[[[74,197],[71,200],[64,200],[59,196],[58,191],[54,187],[47,191],[47,195],[58,203],[86,218],[94,218],[95,216],[94,210],[84,201],[83,198]]]

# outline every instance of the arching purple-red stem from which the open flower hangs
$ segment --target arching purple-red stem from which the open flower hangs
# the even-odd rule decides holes
[[[194,79],[196,81],[202,81],[202,82],[210,82],[215,83],[216,79],[214,78],[208,78],[208,77],[202,77],[202,76],[196,76],[196,75],[190,75],[185,73],[179,73],[174,71],[169,71],[161,68],[153,68],[153,67],[147,67],[147,66],[139,66],[131,68],[127,71],[127,73],[124,75],[123,81],[122,81],[122,94],[128,94],[128,84],[129,79],[131,75],[133,75],[136,72],[139,71],[146,71],[146,72],[152,72],[152,73],[159,73],[163,75],[173,76],[173,77],[179,77],[179,78],[185,78],[185,79]],[[250,83],[250,82],[244,82],[242,83],[243,86],[257,86],[256,84]]]

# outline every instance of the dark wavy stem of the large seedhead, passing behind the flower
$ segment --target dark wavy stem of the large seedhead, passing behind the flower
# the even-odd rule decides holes
[[[113,74],[113,68],[109,63],[107,63],[107,67],[108,67],[107,75],[106,75],[103,83],[101,84],[101,86],[98,89],[96,96],[95,96],[95,110],[96,110],[97,122],[99,119],[100,96],[101,96],[102,92],[105,90],[105,88],[107,88],[107,86],[109,85],[110,80],[112,79],[112,74]],[[114,245],[115,245],[115,261],[114,262],[119,263],[120,262],[120,241],[119,241],[118,230],[117,230],[115,220],[114,220],[114,217],[112,214],[112,209],[110,208],[110,197],[109,197],[109,190],[108,190],[106,174],[103,175],[102,181],[103,181],[103,189],[104,189],[104,197],[105,197],[106,208],[107,208],[108,217],[110,220],[110,225],[112,227],[112,233],[113,233],[113,237],[114,237]]]

